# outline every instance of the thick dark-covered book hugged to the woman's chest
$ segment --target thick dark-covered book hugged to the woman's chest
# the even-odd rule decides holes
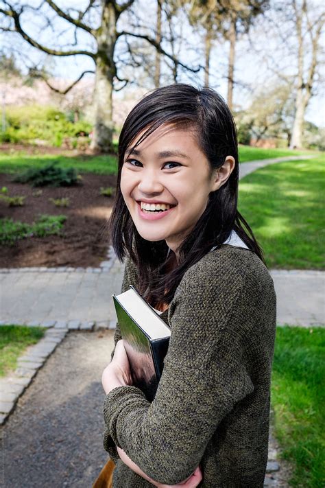
[[[152,402],[163,373],[171,329],[134,286],[112,297],[133,384]]]

